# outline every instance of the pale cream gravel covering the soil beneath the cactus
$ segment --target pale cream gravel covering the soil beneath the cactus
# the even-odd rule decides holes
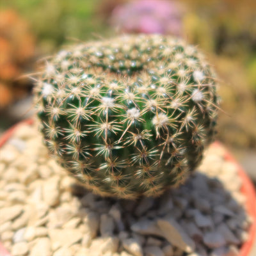
[[[22,124],[0,149],[0,241],[13,256],[236,256],[250,227],[240,188],[236,165],[211,147],[160,198],[100,198]]]

